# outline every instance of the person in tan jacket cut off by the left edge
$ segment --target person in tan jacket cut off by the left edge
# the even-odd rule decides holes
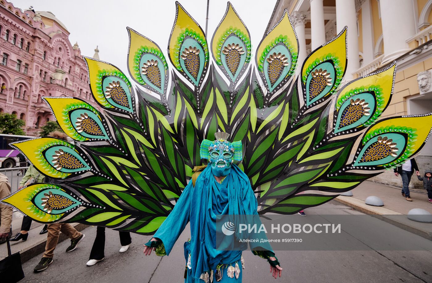
[[[0,199],[10,195],[10,183],[6,175],[0,173]],[[0,244],[6,242],[6,238],[12,236],[12,207],[0,204]]]

